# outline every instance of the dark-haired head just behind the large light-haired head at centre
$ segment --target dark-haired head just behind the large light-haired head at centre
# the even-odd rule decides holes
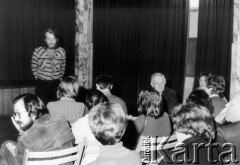
[[[108,103],[108,98],[99,90],[92,89],[87,93],[85,102],[86,106],[90,110],[99,103]]]

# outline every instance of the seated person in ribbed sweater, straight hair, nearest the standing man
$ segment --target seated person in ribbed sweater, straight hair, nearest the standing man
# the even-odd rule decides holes
[[[85,116],[88,113],[87,107],[83,103],[75,101],[78,88],[78,81],[75,77],[63,78],[57,90],[59,100],[47,104],[49,113],[52,116],[62,116],[70,123]]]

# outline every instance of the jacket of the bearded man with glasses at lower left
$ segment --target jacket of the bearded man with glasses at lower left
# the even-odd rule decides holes
[[[37,119],[31,128],[18,139],[16,159],[22,164],[25,149],[29,151],[54,151],[73,146],[74,136],[66,120],[49,114]]]

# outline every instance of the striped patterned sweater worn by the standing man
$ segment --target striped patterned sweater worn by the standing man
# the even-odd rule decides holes
[[[35,79],[56,80],[63,77],[66,66],[66,53],[61,47],[55,49],[53,66],[48,57],[48,51],[44,47],[34,50],[31,60],[31,70]]]

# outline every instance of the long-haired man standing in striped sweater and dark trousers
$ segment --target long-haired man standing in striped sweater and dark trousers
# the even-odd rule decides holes
[[[35,79],[36,94],[46,105],[57,100],[57,87],[65,73],[66,53],[58,45],[58,33],[54,29],[47,29],[44,33],[45,45],[33,52],[31,70]]]

